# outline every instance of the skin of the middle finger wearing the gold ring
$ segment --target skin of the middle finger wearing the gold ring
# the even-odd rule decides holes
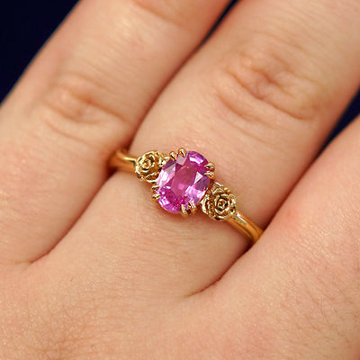
[[[239,209],[265,226],[356,91],[359,11],[356,1],[331,9],[325,1],[239,3],[161,95],[130,152],[199,151],[238,196]],[[349,26],[352,36],[337,30]],[[92,241],[94,257],[111,247],[128,265],[156,264],[153,285],[160,286],[161,269],[166,285],[175,284],[169,292],[183,295],[215,282],[247,247],[228,224],[171,216],[149,197],[129,175],[105,185],[79,223],[85,244],[86,233],[104,238]],[[106,234],[100,217],[113,224]],[[125,234],[129,241],[119,241]],[[134,251],[144,257],[133,258]]]

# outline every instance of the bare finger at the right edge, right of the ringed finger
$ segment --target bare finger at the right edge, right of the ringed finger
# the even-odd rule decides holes
[[[262,241],[215,290],[222,319],[239,331],[254,358],[360,354],[359,137],[360,118],[320,157]],[[238,315],[230,319],[230,313]],[[249,329],[256,329],[256,343]],[[236,348],[241,344],[233,338]]]

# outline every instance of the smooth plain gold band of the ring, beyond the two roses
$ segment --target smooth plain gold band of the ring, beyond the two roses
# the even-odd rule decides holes
[[[136,166],[138,157],[133,157],[123,150],[117,150],[112,157],[110,158],[109,166],[113,170],[124,169],[130,172],[133,172]],[[255,244],[260,238],[263,230],[257,226],[257,224],[248,219],[243,213],[237,211],[235,215],[229,217],[227,220],[229,224],[245,235],[247,238],[250,238]]]

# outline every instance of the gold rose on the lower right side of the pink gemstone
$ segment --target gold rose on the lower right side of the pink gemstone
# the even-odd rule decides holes
[[[229,189],[214,183],[202,199],[202,211],[213,220],[226,220],[237,212],[236,199]]]

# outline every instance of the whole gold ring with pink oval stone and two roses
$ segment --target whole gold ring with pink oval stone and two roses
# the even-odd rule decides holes
[[[112,155],[110,167],[135,172],[140,180],[152,184],[152,199],[166,211],[187,216],[200,207],[212,220],[229,222],[253,243],[263,233],[238,211],[235,195],[214,181],[215,166],[198,152],[179,148],[168,155],[148,151],[133,157],[119,149]]]

